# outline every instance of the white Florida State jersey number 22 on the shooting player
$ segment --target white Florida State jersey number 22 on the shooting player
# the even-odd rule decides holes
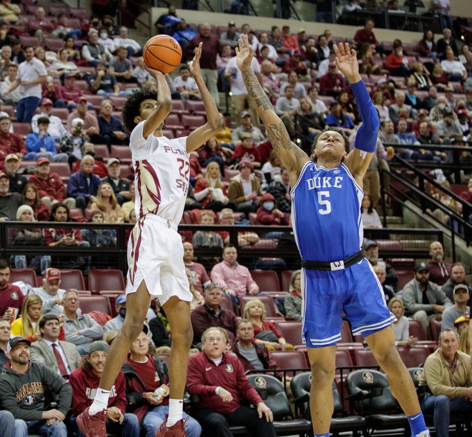
[[[187,137],[143,137],[144,121],[131,132],[129,147],[135,171],[136,218],[156,214],[178,224],[187,197],[190,165]]]

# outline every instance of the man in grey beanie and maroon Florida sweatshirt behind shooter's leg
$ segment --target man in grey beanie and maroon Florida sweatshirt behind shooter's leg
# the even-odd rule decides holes
[[[94,341],[90,345],[89,354],[82,367],[75,369],[69,378],[72,387],[71,412],[74,419],[92,404],[91,393],[98,389],[98,384],[103,373],[107,359],[108,346],[104,341]],[[126,383],[123,372],[112,386],[107,405],[107,432],[123,433],[124,436],[139,437],[140,429],[138,418],[133,413],[127,413],[126,407]],[[77,436],[84,436],[79,430]]]

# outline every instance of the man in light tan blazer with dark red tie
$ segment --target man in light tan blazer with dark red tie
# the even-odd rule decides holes
[[[59,340],[60,323],[58,316],[49,314],[39,320],[42,340],[31,345],[30,360],[43,364],[62,377],[68,377],[78,369],[81,357],[74,344]]]

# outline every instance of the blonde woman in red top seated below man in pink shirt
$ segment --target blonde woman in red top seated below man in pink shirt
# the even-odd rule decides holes
[[[244,305],[243,319],[251,320],[254,327],[256,343],[266,345],[267,350],[294,350],[295,348],[285,341],[279,330],[266,318],[266,307],[261,299],[251,299]]]

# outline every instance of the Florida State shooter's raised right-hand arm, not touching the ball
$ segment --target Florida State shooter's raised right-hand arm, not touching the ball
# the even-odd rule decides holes
[[[202,95],[203,104],[205,105],[205,112],[207,113],[207,122],[195,129],[187,138],[186,149],[190,153],[193,150],[198,149],[200,146],[204,145],[211,137],[213,137],[216,132],[221,129],[222,121],[218,113],[218,108],[216,107],[215,102],[213,101],[211,94],[208,91],[207,86],[202,77],[200,71],[200,57],[202,56],[202,46],[201,42],[198,47],[195,48],[195,56],[188,63],[190,67],[190,73],[192,73],[195,82],[197,83],[200,94]]]

